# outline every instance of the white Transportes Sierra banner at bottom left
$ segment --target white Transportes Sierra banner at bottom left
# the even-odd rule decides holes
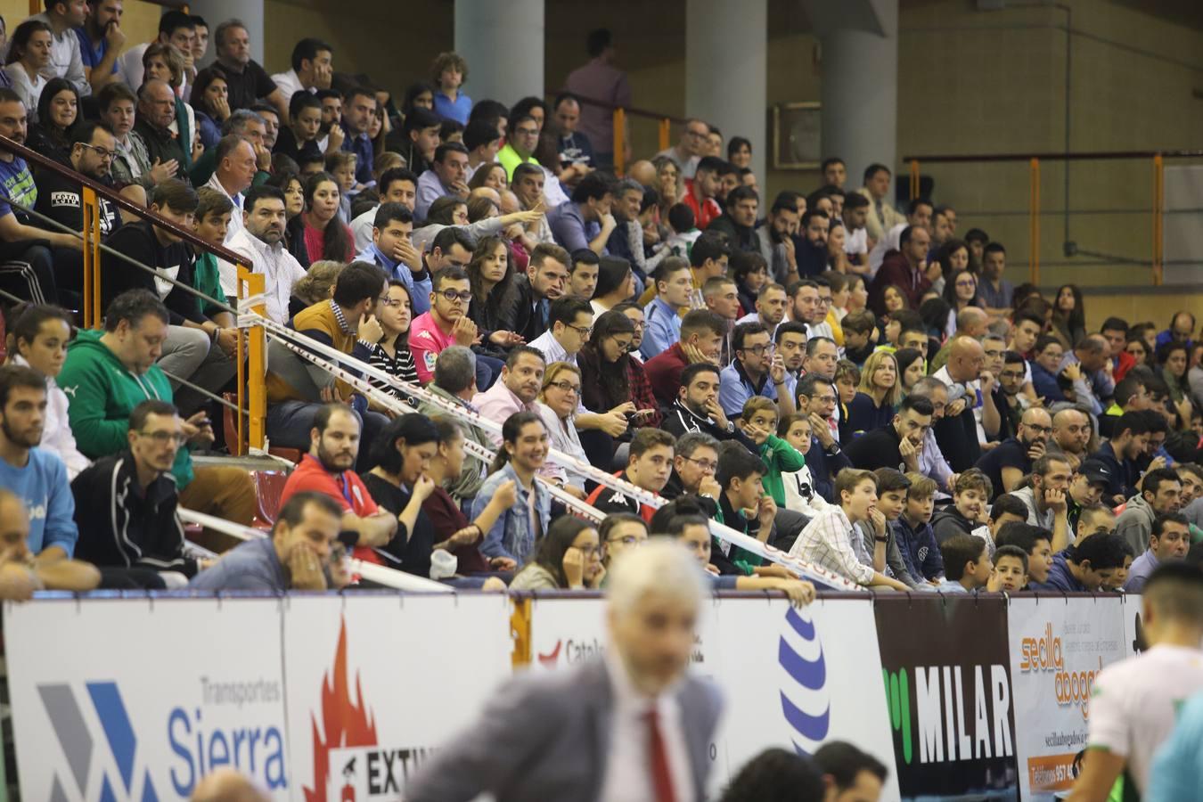
[[[6,602],[22,798],[186,800],[221,766],[289,798],[279,606]]]

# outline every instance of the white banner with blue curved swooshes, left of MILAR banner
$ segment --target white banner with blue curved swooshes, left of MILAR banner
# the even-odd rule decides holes
[[[717,791],[768,747],[813,754],[848,741],[889,767],[882,800],[899,798],[873,606],[860,599],[724,599],[712,607],[715,681],[725,711],[716,742]]]

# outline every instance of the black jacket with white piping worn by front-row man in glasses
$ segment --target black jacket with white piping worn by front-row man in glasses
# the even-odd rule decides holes
[[[196,575],[184,554],[184,524],[176,515],[176,477],[161,474],[143,492],[129,451],[105,457],[71,482],[79,529],[75,556],[102,568],[146,568]]]

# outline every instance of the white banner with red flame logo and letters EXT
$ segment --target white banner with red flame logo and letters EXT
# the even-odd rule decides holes
[[[289,600],[297,802],[401,798],[407,778],[512,676],[502,594]]]

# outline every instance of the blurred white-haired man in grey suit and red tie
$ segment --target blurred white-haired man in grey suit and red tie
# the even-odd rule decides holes
[[[422,766],[407,802],[704,800],[722,700],[686,673],[703,580],[674,541],[623,553],[608,584],[605,658],[498,689]]]

